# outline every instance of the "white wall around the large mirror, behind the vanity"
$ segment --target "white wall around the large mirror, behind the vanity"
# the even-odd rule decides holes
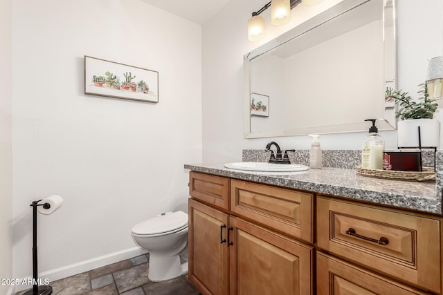
[[[291,12],[286,26],[273,27],[270,11],[261,16],[266,36],[262,41],[249,42],[246,23],[251,12],[263,3],[244,0],[230,1],[203,27],[203,145],[204,162],[241,160],[242,149],[264,149],[270,140],[282,149],[309,149],[307,136],[247,139],[243,138],[243,55],[297,26],[305,19],[333,6],[336,1],[323,1],[318,6],[298,6]],[[399,88],[417,92],[416,85],[426,78],[426,60],[443,55],[442,0],[401,0],[399,6]],[[428,30],[435,32],[428,36]],[[214,108],[214,106],[226,106]],[[443,111],[436,116],[442,120]],[[386,148],[397,147],[396,131],[382,131]],[[361,149],[365,133],[322,135],[323,149]],[[441,144],[442,145],[442,144]],[[443,146],[443,145],[442,145]]]

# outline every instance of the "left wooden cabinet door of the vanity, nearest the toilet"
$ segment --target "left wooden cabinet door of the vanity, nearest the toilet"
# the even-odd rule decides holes
[[[190,281],[201,294],[228,294],[228,215],[189,199]]]

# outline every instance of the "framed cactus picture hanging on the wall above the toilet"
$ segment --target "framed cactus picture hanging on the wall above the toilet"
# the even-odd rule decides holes
[[[84,94],[159,102],[159,72],[84,56]]]

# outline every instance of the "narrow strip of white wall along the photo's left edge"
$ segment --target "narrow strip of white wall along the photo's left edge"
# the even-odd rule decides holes
[[[12,278],[12,0],[0,6],[0,278]],[[0,294],[9,288],[0,284]]]

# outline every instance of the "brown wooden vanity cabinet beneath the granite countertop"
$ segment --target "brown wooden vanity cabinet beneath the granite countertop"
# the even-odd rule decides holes
[[[192,171],[201,294],[442,294],[443,218]]]

